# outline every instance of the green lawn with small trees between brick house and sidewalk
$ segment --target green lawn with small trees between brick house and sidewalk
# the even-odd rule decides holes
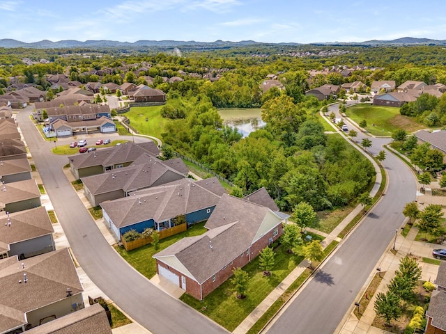
[[[312,235],[313,239],[322,239],[316,234]],[[243,270],[249,274],[245,299],[237,299],[231,279],[229,279],[206,296],[203,301],[198,301],[189,294],[183,294],[180,300],[229,331],[233,331],[304,260],[301,246],[293,250],[294,253],[289,254],[282,246],[275,248],[275,267],[269,277],[263,276],[263,271],[259,269],[259,257],[243,267]],[[316,264],[314,266],[316,267]]]

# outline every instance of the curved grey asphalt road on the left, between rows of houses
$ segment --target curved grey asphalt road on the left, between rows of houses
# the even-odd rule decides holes
[[[89,278],[130,317],[153,333],[228,333],[184,303],[155,287],[107,244],[63,174],[66,156],[50,152],[29,119],[32,107],[17,114],[29,151],[42,177],[76,259]]]

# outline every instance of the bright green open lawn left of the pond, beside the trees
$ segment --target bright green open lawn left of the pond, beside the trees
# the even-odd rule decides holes
[[[139,134],[147,134],[161,138],[167,118],[161,117],[162,106],[133,106],[130,111],[123,113],[130,120],[130,126],[137,129]],[[146,121],[147,118],[147,121]]]

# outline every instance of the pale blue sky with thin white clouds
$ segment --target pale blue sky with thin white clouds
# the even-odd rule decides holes
[[[23,42],[446,39],[440,0],[0,0],[0,13],[0,38]]]

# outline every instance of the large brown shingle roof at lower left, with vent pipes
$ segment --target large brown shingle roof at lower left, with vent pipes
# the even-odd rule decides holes
[[[24,264],[24,268],[21,264]],[[19,284],[26,273],[27,283]],[[26,324],[24,314],[82,292],[68,248],[18,261],[0,260],[0,333]]]

